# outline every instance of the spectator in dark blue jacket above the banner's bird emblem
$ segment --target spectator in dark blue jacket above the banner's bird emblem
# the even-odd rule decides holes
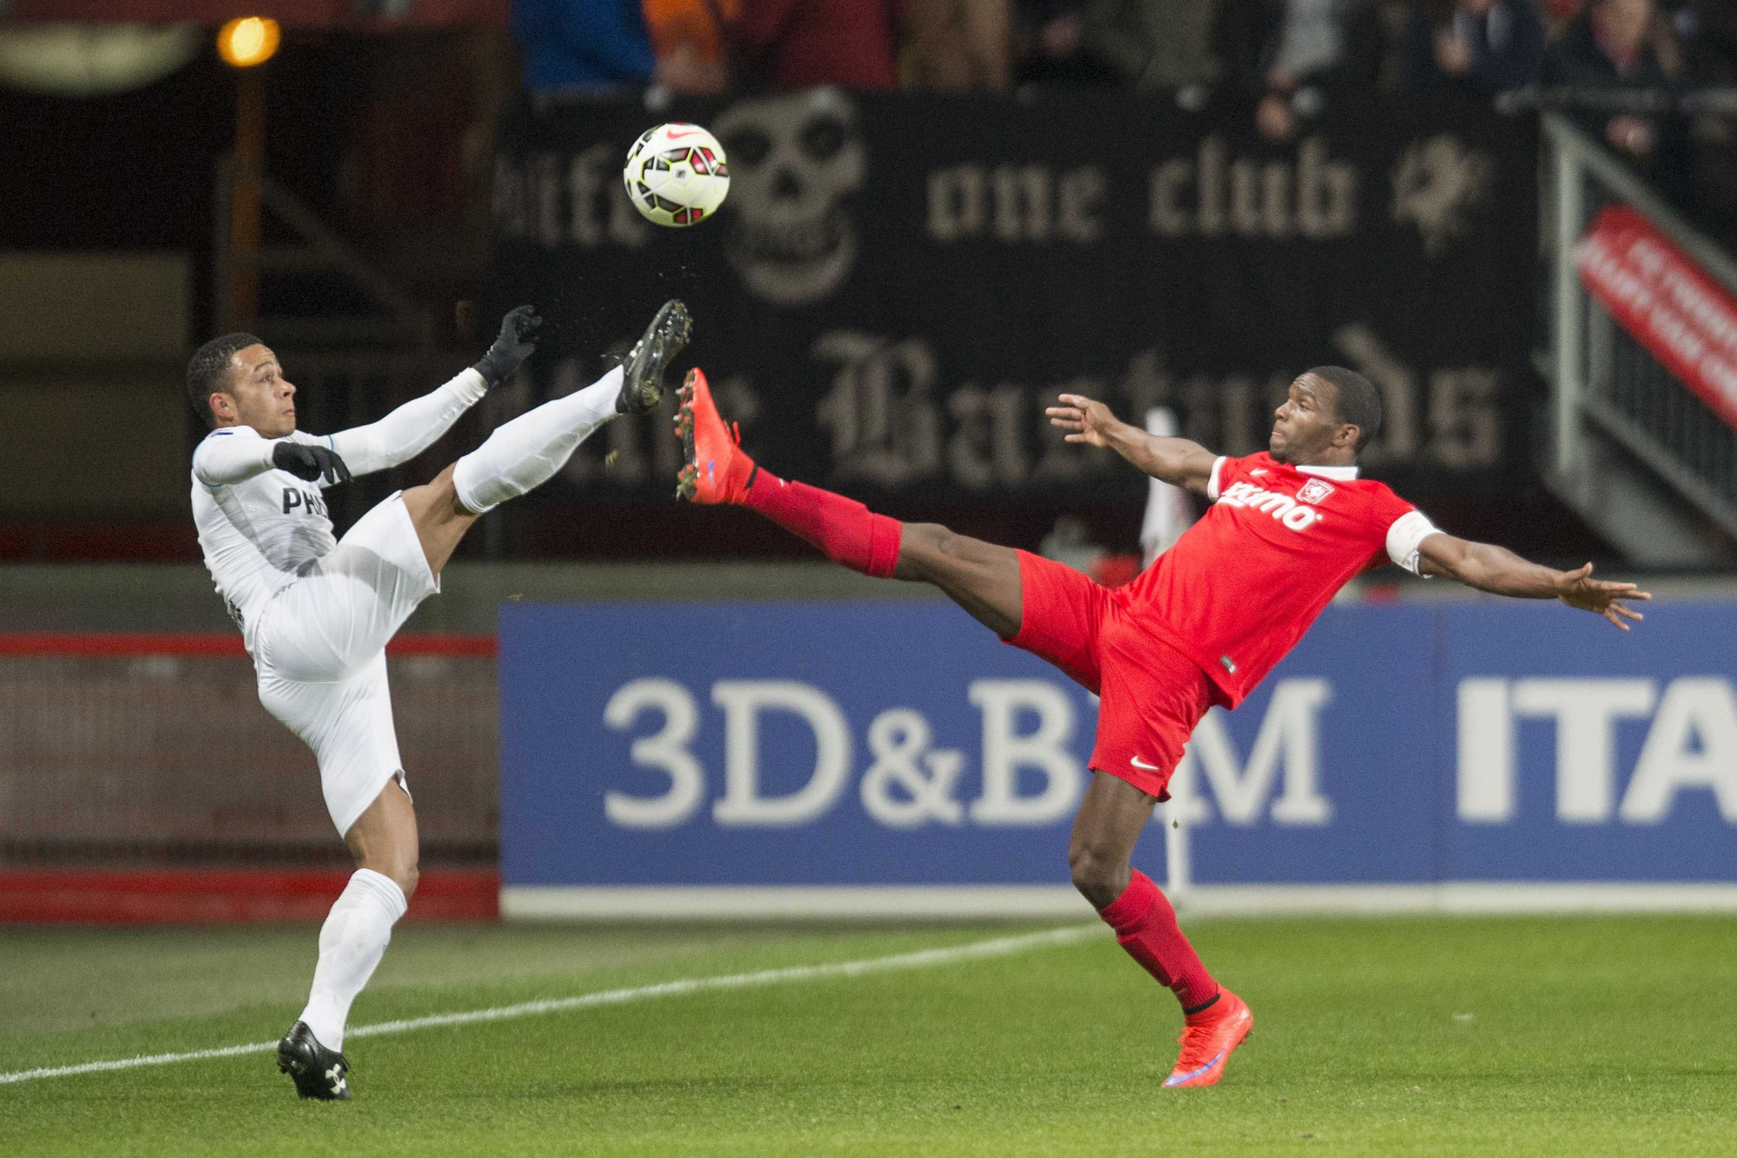
[[[1445,0],[1412,9],[1405,82],[1414,92],[1492,97],[1536,85],[1544,24],[1532,0]]]

